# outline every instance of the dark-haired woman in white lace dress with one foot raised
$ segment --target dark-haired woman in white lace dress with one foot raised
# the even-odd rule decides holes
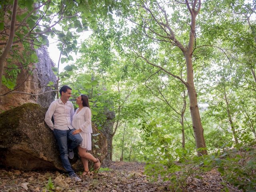
[[[78,146],[78,154],[84,165],[84,172],[82,176],[86,176],[90,175],[88,160],[92,160],[94,162],[94,170],[98,170],[100,168],[100,161],[98,158],[94,158],[92,154],[87,152],[92,150],[91,110],[88,96],[80,95],[78,98],[76,98],[76,103],[78,104],[79,108],[76,109],[76,112],[73,116],[72,126],[76,130],[72,134],[81,134],[83,138],[80,146]]]

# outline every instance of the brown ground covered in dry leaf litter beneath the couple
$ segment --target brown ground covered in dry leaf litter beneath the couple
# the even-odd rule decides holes
[[[144,165],[138,162],[112,162],[105,160],[103,172],[73,182],[60,172],[20,172],[0,169],[0,192],[169,192],[169,182],[160,178],[151,182],[144,175]],[[201,179],[188,180],[184,192],[241,192],[222,180],[217,170],[201,175]],[[52,182],[49,182],[51,177]],[[225,184],[223,184],[225,183]],[[46,188],[48,190],[46,190]],[[53,189],[54,188],[54,189]]]

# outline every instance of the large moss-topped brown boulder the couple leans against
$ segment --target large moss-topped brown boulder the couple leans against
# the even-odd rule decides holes
[[[26,103],[0,114],[0,166],[20,170],[64,170],[54,134],[44,122],[47,108]],[[94,126],[93,126],[94,127]],[[94,133],[100,133],[95,127]],[[92,150],[102,161],[107,153],[107,141],[98,135],[100,149]],[[76,154],[75,169],[82,168]]]

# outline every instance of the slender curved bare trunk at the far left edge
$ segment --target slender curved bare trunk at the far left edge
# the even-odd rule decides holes
[[[10,51],[10,48],[12,47],[12,41],[14,38],[17,7],[18,7],[18,0],[14,0],[13,6],[12,6],[12,20],[11,20],[9,38],[8,38],[6,47],[4,48],[4,51],[0,55],[0,92],[2,88],[2,75],[4,74],[4,62],[5,62],[6,56],[8,55],[8,52]]]

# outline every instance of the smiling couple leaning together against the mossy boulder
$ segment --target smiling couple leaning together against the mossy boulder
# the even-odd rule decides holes
[[[94,170],[100,168],[100,161],[87,152],[87,150],[92,150],[92,124],[88,96],[80,95],[76,98],[79,108],[74,112],[74,106],[69,101],[71,93],[72,89],[66,85],[60,88],[60,98],[50,104],[44,121],[54,132],[63,167],[71,179],[81,181],[68,160],[74,157],[73,149],[79,145],[78,153],[84,165],[82,176],[90,175],[88,160],[94,162]]]

